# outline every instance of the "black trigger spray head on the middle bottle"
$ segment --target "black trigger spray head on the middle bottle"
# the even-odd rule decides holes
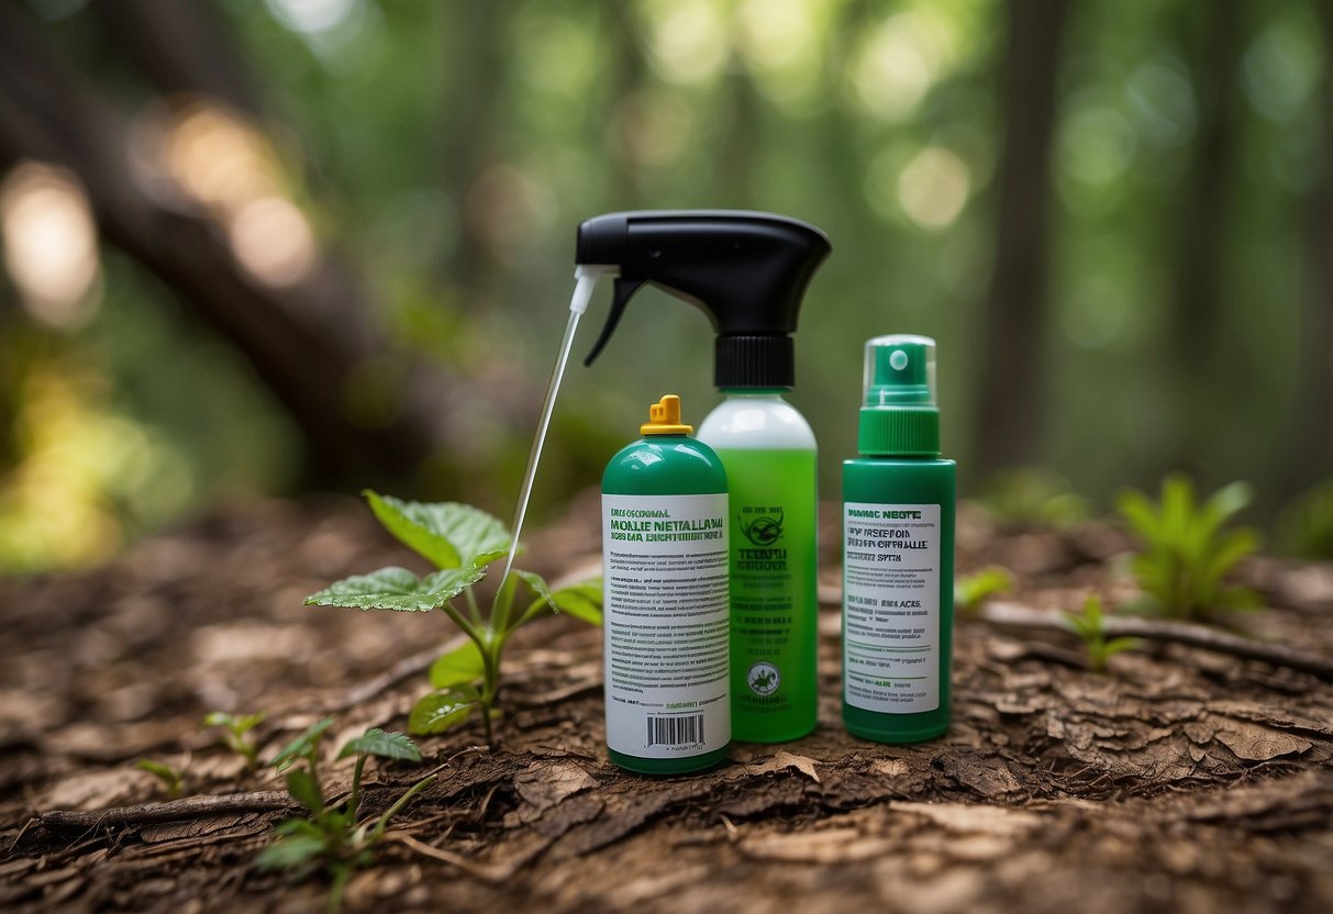
[[[601,353],[645,284],[708,314],[717,333],[717,386],[790,386],[790,333],[805,286],[830,250],[813,225],[744,211],[644,211],[595,216],[579,227],[575,260],[616,266]]]

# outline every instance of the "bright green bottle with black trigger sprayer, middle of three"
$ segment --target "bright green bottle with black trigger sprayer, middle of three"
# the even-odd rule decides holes
[[[700,308],[717,333],[704,420],[730,481],[732,735],[785,742],[818,717],[818,477],[816,442],[785,394],[797,316],[828,257],[813,225],[737,211],[608,213],[579,227],[576,260],[617,273],[611,313],[587,364],[631,297],[655,285]]]

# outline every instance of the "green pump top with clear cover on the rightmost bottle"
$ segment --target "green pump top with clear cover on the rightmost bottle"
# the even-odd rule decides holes
[[[910,333],[866,340],[857,450],[865,457],[940,456],[934,340]]]

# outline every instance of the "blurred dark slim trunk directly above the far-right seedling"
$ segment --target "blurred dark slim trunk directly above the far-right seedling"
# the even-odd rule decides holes
[[[1198,127],[1176,233],[1180,248],[1176,252],[1168,344],[1176,370],[1174,408],[1180,437],[1173,442],[1174,453],[1169,454],[1169,464],[1197,477],[1205,470],[1205,424],[1212,405],[1250,374],[1244,368],[1237,370],[1234,364],[1221,370],[1224,360],[1249,357],[1244,349],[1236,353],[1222,350],[1226,342],[1222,333],[1226,310],[1222,277],[1241,104],[1237,72],[1245,32],[1241,4],[1237,3],[1217,3],[1206,9],[1186,4],[1181,13],[1200,20],[1197,27],[1190,28],[1194,37],[1190,69],[1194,73]]]

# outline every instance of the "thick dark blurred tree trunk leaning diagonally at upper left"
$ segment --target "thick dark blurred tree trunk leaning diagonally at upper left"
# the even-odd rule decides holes
[[[137,27],[135,56],[156,60],[152,75],[173,89],[195,88],[191,73],[212,65],[203,55],[221,55],[225,45],[195,47],[209,41],[209,29],[183,25],[181,17],[197,5],[167,5],[172,12],[164,20]],[[160,12],[159,4],[140,3],[115,11],[129,31],[136,29],[132,11]],[[445,434],[444,377],[404,365],[397,414],[377,428],[353,421],[348,385],[387,353],[357,284],[327,254],[292,285],[275,288],[247,274],[208,215],[145,187],[131,165],[120,115],[55,56],[45,37],[31,16],[0,3],[0,164],[32,159],[77,175],[105,238],[161,280],[187,313],[227,337],[285,406],[305,442],[303,482],[401,486]],[[155,41],[180,45],[165,49]],[[241,68],[233,63],[221,72]],[[243,97],[240,85],[213,88]]]

